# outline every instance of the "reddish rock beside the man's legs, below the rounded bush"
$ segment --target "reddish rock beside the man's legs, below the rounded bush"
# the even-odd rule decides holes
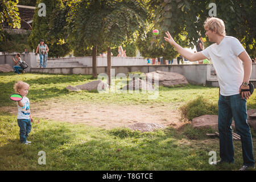
[[[192,126],[195,128],[211,127],[214,130],[218,129],[218,115],[202,115],[200,117],[194,118],[191,122]],[[234,121],[232,122],[232,127],[234,127]]]

